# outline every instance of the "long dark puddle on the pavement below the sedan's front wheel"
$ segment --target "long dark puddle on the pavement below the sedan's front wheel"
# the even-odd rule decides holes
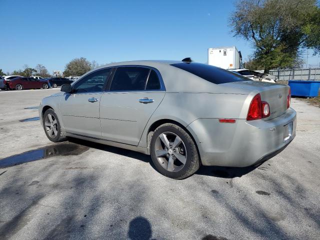
[[[89,149],[74,143],[54,144],[0,159],[0,168],[14,166],[29,161],[46,159],[52,156],[80,155]]]

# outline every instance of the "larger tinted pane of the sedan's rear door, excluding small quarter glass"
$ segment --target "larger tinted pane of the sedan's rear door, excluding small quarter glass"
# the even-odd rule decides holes
[[[144,90],[149,68],[118,67],[114,73],[110,91]]]

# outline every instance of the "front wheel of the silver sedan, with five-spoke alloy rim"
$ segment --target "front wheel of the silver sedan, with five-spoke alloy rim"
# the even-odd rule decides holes
[[[66,140],[64,132],[61,130],[59,119],[57,118],[53,109],[47,109],[44,112],[42,123],[45,135],[50,141],[60,142]]]

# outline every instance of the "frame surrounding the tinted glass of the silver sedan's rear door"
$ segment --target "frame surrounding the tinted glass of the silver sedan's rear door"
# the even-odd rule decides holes
[[[144,68],[149,68],[149,72],[148,72],[148,75],[147,75],[147,79],[146,79],[146,82],[145,82],[145,85],[144,85],[144,89],[143,90],[110,90],[110,87],[111,87],[111,84],[112,84],[112,80],[113,80],[113,76],[114,74],[112,75],[112,78],[110,79],[110,85],[109,85],[109,89],[105,89],[104,92],[110,92],[110,93],[113,93],[113,92],[159,92],[159,91],[165,91],[165,86],[164,86],[164,83],[163,83],[163,79],[162,79],[162,76],[159,72],[158,69],[152,67],[152,66],[145,66],[145,65],[118,65],[118,66],[113,66],[115,68],[115,71],[117,68],[119,67],[144,67]],[[159,78],[159,81],[160,81],[160,88],[159,89],[145,89],[146,87],[146,83],[149,79],[149,75],[150,75],[150,72],[151,70],[154,70]]]

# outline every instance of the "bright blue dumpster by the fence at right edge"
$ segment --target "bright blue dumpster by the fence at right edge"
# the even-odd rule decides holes
[[[318,95],[320,81],[289,80],[292,96],[314,97]]]

